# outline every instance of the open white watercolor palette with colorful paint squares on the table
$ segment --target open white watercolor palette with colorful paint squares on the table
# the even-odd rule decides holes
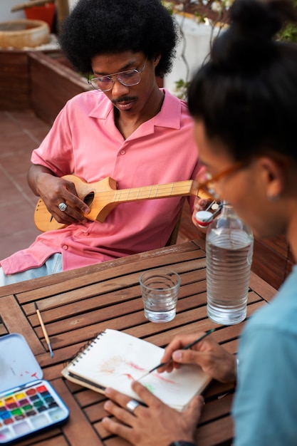
[[[0,338],[0,445],[61,425],[69,410],[42,379],[26,340],[18,333]]]

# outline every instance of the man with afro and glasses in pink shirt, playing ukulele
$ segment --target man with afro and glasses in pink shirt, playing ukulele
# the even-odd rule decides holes
[[[177,29],[160,0],[80,0],[66,18],[61,49],[94,89],[66,103],[28,172],[31,189],[64,227],[1,261],[1,285],[167,244],[184,197],[125,202],[100,223],[88,219],[91,204],[64,176],[112,177],[118,190],[197,177],[187,104],[156,81],[170,72]]]

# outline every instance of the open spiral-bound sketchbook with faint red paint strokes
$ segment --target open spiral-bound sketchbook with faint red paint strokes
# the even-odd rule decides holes
[[[99,393],[111,387],[140,400],[131,388],[132,380],[141,378],[159,364],[163,354],[164,348],[108,328],[78,353],[62,370],[62,375]],[[155,370],[140,383],[164,403],[182,411],[210,380],[198,365],[182,365],[171,373]]]

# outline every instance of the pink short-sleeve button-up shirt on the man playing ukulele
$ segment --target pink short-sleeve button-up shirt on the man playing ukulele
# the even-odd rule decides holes
[[[199,171],[187,105],[164,90],[160,113],[126,140],[115,127],[113,104],[99,91],[81,93],[65,105],[38,149],[33,164],[88,183],[112,177],[117,188],[194,179]],[[194,197],[191,198],[193,204]],[[41,266],[60,252],[63,271],[165,246],[184,197],[119,204],[105,222],[71,224],[39,235],[28,249],[1,261],[5,274]]]

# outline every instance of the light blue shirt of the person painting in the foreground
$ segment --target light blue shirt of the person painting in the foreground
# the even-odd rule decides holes
[[[297,445],[297,266],[239,344],[234,446]]]

